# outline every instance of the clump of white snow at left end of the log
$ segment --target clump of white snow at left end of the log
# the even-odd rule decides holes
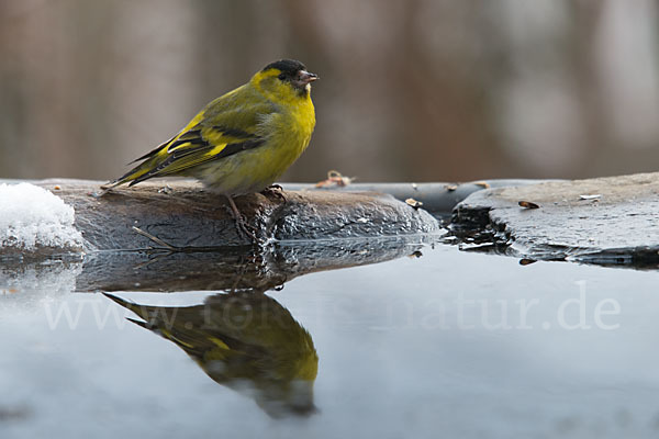
[[[85,239],[74,219],[74,207],[43,188],[0,184],[0,248],[80,249]]]

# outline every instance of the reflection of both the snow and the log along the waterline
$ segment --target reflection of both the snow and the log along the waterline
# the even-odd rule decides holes
[[[10,258],[0,263],[0,294],[16,293],[10,295],[20,301],[42,291],[266,291],[306,273],[418,255],[434,239],[327,239],[174,254],[99,251],[58,257],[47,264]]]

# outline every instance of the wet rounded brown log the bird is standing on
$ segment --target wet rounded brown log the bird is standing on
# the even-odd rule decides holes
[[[224,198],[189,181],[145,182],[116,188],[102,198],[89,194],[100,182],[44,180],[36,184],[53,191],[76,210],[76,227],[90,248],[136,249],[154,245],[134,226],[179,247],[220,247],[249,244],[237,233]],[[439,226],[423,210],[414,210],[390,195],[327,191],[284,192],[276,196],[245,195],[236,203],[263,238],[323,239],[381,237],[435,233]]]

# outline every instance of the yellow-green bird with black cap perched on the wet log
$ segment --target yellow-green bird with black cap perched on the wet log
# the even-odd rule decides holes
[[[141,162],[102,185],[100,195],[124,183],[192,177],[224,195],[238,230],[255,238],[234,198],[270,188],[306,149],[315,127],[311,82],[316,79],[294,59],[268,64],[247,83],[206,104],[172,138],[133,160]]]

